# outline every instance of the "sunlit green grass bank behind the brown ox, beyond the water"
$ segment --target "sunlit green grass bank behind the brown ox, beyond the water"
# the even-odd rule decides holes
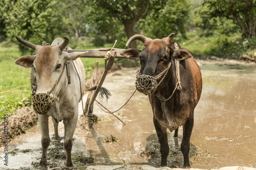
[[[202,36],[200,30],[190,31],[187,32],[187,39],[182,39],[181,35],[178,35],[174,41],[187,48],[193,56],[216,56],[227,59],[239,59],[243,54],[254,50],[255,46],[243,45],[244,40],[238,33],[227,36],[217,31],[208,37]]]

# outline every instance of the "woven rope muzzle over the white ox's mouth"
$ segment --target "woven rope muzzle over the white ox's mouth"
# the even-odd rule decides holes
[[[33,96],[33,109],[38,114],[46,114],[54,103],[49,93],[37,93]]]

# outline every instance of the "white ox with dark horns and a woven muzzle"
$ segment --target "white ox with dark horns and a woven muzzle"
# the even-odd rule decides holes
[[[85,81],[84,68],[79,57],[87,52],[64,52],[63,49],[69,43],[69,39],[65,36],[63,37],[65,41],[62,40],[60,45],[55,46],[35,45],[17,36],[16,38],[20,43],[35,50],[34,56],[19,58],[15,63],[24,67],[32,67],[36,74],[37,91],[33,97],[33,107],[38,113],[42,137],[42,157],[39,169],[47,169],[47,149],[50,144],[49,116],[54,119],[55,139],[58,136],[58,122],[63,120],[65,126],[64,147],[67,153],[66,166],[73,166],[71,160],[72,139],[77,124],[78,103],[83,95]],[[65,63],[68,62],[70,63],[68,65],[71,84],[68,83],[67,71],[65,70],[67,69]]]

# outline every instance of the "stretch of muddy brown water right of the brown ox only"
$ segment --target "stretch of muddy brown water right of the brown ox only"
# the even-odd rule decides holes
[[[256,66],[204,62],[190,140],[198,153],[193,167],[256,167]]]

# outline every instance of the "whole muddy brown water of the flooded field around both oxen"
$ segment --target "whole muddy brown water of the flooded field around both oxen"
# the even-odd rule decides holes
[[[236,61],[198,62],[202,71],[203,92],[195,110],[195,124],[190,140],[191,167],[256,167],[256,65]],[[111,91],[112,97],[108,102],[103,100],[101,103],[109,110],[117,110],[130,98],[135,90],[136,71],[123,69],[106,77],[103,86]],[[136,92],[131,101],[115,113],[125,126],[113,115],[101,111],[97,105],[94,106],[94,114],[101,119],[97,125],[87,130],[76,129],[73,157],[93,156],[96,165],[160,165],[160,146],[147,96]],[[59,127],[60,136],[63,136],[62,123]],[[8,167],[32,167],[32,161],[39,162],[39,132],[37,125],[9,143],[9,150],[19,149],[23,152],[9,155]],[[52,123],[50,134],[52,137]],[[118,138],[118,142],[105,143],[103,139],[110,135]],[[177,167],[183,162],[179,150],[182,127],[177,139],[172,136],[173,133],[169,133],[170,154],[167,160],[169,167]],[[31,149],[31,152],[24,152],[27,149]],[[3,157],[3,148],[0,151]],[[141,157],[143,151],[155,152],[155,156]],[[57,165],[63,166],[64,162],[61,160]],[[86,168],[84,164],[73,163],[79,169]],[[2,163],[0,167],[4,167]]]

